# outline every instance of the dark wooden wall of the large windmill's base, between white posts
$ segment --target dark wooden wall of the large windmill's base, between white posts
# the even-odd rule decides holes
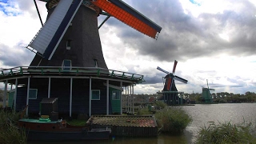
[[[91,101],[92,114],[106,114],[106,86],[105,81],[93,79],[92,89],[101,91],[100,100]],[[48,78],[30,78],[30,89],[38,89],[37,99],[29,100],[29,113],[38,114],[42,98],[48,98]],[[17,110],[26,106],[27,87],[18,88]],[[72,114],[89,114],[89,79],[73,78]],[[70,78],[51,78],[50,98],[58,98],[58,113],[70,113]],[[109,100],[109,114],[112,114],[111,99]]]

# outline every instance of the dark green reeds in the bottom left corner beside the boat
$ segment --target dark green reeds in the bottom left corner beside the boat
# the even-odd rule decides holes
[[[26,143],[25,130],[18,130],[16,123],[18,113],[0,111],[0,143],[24,144]]]

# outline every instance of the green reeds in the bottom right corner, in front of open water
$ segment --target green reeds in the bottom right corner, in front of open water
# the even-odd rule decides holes
[[[211,122],[210,126],[201,128],[196,143],[256,143],[251,128],[252,124],[245,122],[239,125],[231,122],[219,122],[218,125],[215,125],[214,122]]]

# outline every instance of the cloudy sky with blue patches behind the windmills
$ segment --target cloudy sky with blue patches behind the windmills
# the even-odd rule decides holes
[[[108,68],[144,75],[135,94],[162,90],[166,74],[157,67],[171,72],[174,60],[175,75],[188,80],[175,81],[178,91],[202,93],[208,80],[214,93],[256,92],[256,0],[123,2],[162,27],[157,40],[113,17],[99,30]],[[46,3],[37,4],[45,22]],[[0,69],[30,65],[25,47],[40,28],[34,1],[0,0]]]

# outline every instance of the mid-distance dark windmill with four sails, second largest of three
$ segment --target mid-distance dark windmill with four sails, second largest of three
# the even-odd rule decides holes
[[[178,94],[181,94],[182,92],[179,92],[175,86],[174,80],[178,80],[183,83],[187,83],[187,80],[184,78],[180,78],[177,75],[174,75],[175,69],[177,66],[177,61],[174,61],[174,68],[173,68],[173,73],[170,73],[166,70],[162,70],[162,68],[158,67],[157,69],[166,73],[165,77],[165,85],[162,90],[163,94],[163,100],[164,102],[167,103],[167,105],[174,105],[174,104],[182,104],[183,103],[183,98],[179,98]]]

